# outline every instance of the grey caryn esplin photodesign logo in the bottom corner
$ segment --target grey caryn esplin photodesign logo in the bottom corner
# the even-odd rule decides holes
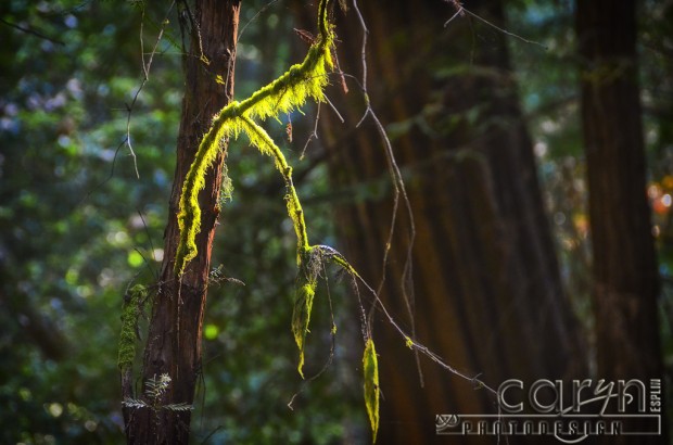
[[[568,383],[566,383],[568,384]],[[520,380],[497,390],[499,414],[437,415],[439,435],[551,435],[567,444],[597,435],[661,434],[661,380]]]

